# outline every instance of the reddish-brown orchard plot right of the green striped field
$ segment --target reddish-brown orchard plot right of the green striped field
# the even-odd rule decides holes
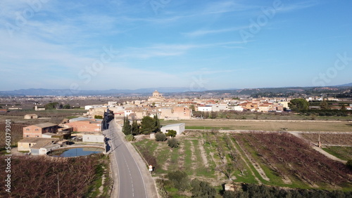
[[[284,183],[296,187],[333,189],[352,186],[352,179],[348,176],[352,171],[345,164],[328,159],[310,148],[306,141],[291,134],[241,133],[233,136],[260,166],[270,169],[267,173],[272,182],[276,183],[279,177]]]

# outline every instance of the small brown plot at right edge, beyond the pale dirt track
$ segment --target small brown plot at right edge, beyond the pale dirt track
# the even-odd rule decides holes
[[[301,136],[312,143],[322,145],[349,145],[352,146],[352,133],[301,133]]]

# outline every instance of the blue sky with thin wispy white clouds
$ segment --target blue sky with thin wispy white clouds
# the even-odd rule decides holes
[[[1,91],[352,82],[352,1],[0,1]]]

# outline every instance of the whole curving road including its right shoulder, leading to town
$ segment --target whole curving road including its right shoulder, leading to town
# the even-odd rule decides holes
[[[108,138],[107,151],[111,152],[114,180],[111,197],[158,197],[146,165],[134,147],[125,142],[125,137],[115,121],[111,121],[109,128],[103,133]]]

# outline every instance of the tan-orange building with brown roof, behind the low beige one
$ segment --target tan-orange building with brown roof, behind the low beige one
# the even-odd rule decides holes
[[[56,133],[58,125],[50,122],[23,127],[23,138],[42,138],[43,133]]]

